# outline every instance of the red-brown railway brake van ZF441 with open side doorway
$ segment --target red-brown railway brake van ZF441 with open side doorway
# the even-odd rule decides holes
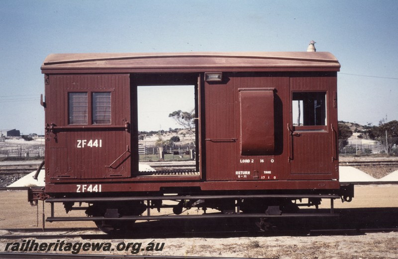
[[[162,207],[173,199],[164,194],[176,195],[176,214],[197,206],[229,216],[353,196],[338,181],[340,64],[330,53],[53,54],[41,69],[46,186],[30,191],[32,202],[73,209],[89,198],[86,213],[104,228]],[[191,170],[139,169],[138,89],[153,85],[192,88]]]

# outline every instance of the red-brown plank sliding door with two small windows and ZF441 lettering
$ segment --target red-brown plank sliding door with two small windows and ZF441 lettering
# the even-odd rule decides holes
[[[81,101],[87,108],[72,104],[76,93],[87,96]],[[47,182],[130,177],[129,98],[128,74],[50,75],[46,85],[46,124],[51,126],[46,134]],[[85,114],[83,121],[73,121],[73,109],[84,110],[79,112]],[[96,120],[97,116],[106,120]]]

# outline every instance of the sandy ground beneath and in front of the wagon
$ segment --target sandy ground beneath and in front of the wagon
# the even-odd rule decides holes
[[[335,208],[363,208],[374,207],[385,210],[388,208],[395,210],[398,208],[398,185],[382,186],[356,186],[355,198],[352,202],[336,200]],[[6,228],[31,228],[37,223],[36,208],[31,207],[26,202],[26,192],[24,191],[2,191],[0,193],[0,229]],[[328,202],[321,207],[327,208]],[[62,205],[58,208],[61,215]],[[39,203],[39,227],[41,227],[42,203]],[[68,215],[73,216],[82,211],[73,211]],[[49,206],[46,204],[45,214],[49,215]],[[57,215],[57,214],[56,214]],[[391,220],[391,219],[390,219]],[[394,219],[393,219],[394,221]],[[151,222],[152,223],[152,222]],[[391,226],[398,228],[397,222],[390,222]],[[397,224],[396,224],[397,223]],[[53,227],[93,227],[91,222],[46,222],[46,228]],[[161,228],[161,227],[160,227]],[[206,227],[204,227],[206,228]],[[150,228],[149,228],[150,229]],[[141,228],[142,231],[142,228]],[[145,228],[144,228],[145,231]],[[148,233],[137,233],[130,237],[120,237],[112,239],[99,239],[95,236],[87,236],[84,232],[77,238],[67,239],[66,242],[109,242],[113,248],[120,243],[142,243],[145,248],[150,242],[164,243],[162,251],[139,251],[137,255],[158,255],[158,256],[206,256],[206,257],[232,257],[232,258],[397,258],[398,257],[398,233],[366,233],[358,235],[331,235],[331,236],[306,236],[306,235],[280,235],[266,233],[265,235],[241,235],[223,234],[214,235],[175,235],[164,236],[162,229],[157,229],[154,234],[150,230]],[[83,233],[83,232],[82,232]],[[93,231],[98,234],[98,231]],[[11,232],[0,230],[0,235],[9,235]],[[66,234],[66,233],[64,233]],[[78,234],[78,233],[77,233]],[[90,233],[89,233],[90,234]],[[57,242],[57,239],[39,239],[39,234],[35,238],[37,242]],[[86,236],[85,236],[86,235]],[[22,242],[22,239],[4,239],[0,236],[0,252],[4,251],[7,243]],[[60,239],[62,233],[60,234]],[[62,239],[64,240],[64,239]],[[102,254],[102,255],[132,255],[132,249],[127,251],[100,251],[84,252],[80,254]],[[54,252],[53,252],[54,253]],[[61,252],[57,252],[61,253]],[[71,254],[71,252],[63,252]],[[0,255],[1,257],[1,255]]]

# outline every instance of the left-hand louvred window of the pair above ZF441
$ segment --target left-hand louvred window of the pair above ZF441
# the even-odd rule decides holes
[[[69,124],[88,124],[87,93],[69,93]]]

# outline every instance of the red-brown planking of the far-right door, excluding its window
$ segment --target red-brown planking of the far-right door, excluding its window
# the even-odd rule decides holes
[[[312,73],[290,78],[291,92],[325,92],[326,93],[326,125],[310,126],[312,130],[300,130],[294,127],[295,135],[291,138],[293,145],[292,176],[289,179],[336,179],[338,178],[337,160],[333,158],[333,135],[337,132],[337,107],[333,107],[336,92],[335,73]],[[292,105],[292,101],[290,102]],[[291,125],[293,122],[291,122]],[[337,157],[335,157],[337,159]]]

